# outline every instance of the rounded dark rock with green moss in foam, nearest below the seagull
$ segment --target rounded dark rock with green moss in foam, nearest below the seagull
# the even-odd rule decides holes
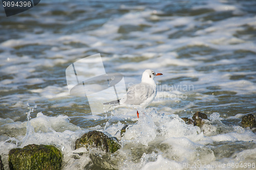
[[[114,153],[120,149],[121,145],[116,137],[106,135],[99,131],[89,131],[75,141],[75,149],[81,147],[96,147],[103,151]]]

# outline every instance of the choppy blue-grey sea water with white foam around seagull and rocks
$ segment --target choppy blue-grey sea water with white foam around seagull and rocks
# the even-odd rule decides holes
[[[253,169],[255,1],[41,1],[6,17],[0,8],[0,154],[53,144],[63,169]],[[126,87],[153,69],[158,93],[141,110],[92,115],[87,98],[71,96],[65,70],[100,53]],[[199,128],[181,117],[197,111]],[[128,125],[121,137],[120,129]],[[113,154],[74,149],[82,134],[116,136]]]

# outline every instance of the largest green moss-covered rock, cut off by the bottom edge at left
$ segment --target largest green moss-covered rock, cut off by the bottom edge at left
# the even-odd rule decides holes
[[[61,168],[61,152],[53,145],[29,144],[9,151],[10,170],[57,170]]]

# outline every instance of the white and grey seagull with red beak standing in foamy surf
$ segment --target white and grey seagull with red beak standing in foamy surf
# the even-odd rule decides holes
[[[146,108],[150,105],[157,95],[157,85],[154,81],[156,76],[163,74],[157,73],[152,69],[146,69],[141,78],[141,83],[135,84],[128,88],[126,93],[126,101],[120,105],[120,100],[103,103],[103,105],[119,105],[120,106],[133,106],[135,108]],[[137,110],[139,118],[139,112]]]

